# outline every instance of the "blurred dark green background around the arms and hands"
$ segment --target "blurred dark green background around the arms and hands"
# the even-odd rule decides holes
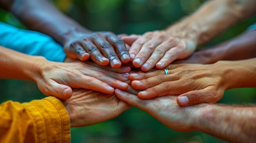
[[[142,34],[165,29],[193,13],[207,0],[54,0],[56,7],[92,31]],[[0,9],[0,21],[26,29],[11,13]],[[57,21],[56,21],[57,22]],[[231,27],[207,46],[228,40],[256,22],[256,15]],[[220,25],[221,26],[221,25]],[[26,102],[45,97],[29,81],[0,80],[0,102]],[[225,92],[218,103],[256,103],[256,88]],[[182,113],[181,113],[182,114]],[[216,143],[224,142],[202,132],[178,132],[146,112],[130,108],[119,117],[83,128],[72,128],[72,143]]]

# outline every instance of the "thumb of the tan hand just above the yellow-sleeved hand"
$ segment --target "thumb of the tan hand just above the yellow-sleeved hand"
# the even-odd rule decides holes
[[[69,86],[58,84],[54,80],[49,81],[49,85],[40,89],[45,95],[55,96],[59,99],[69,99],[72,96],[72,88]]]

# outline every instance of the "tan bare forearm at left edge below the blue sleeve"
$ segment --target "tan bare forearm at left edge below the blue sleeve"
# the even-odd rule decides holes
[[[0,46],[0,78],[36,81],[40,64],[47,60],[12,51]]]

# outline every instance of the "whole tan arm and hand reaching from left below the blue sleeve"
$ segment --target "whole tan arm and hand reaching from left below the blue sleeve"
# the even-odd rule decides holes
[[[0,47],[0,78],[35,81],[45,95],[68,99],[72,88],[86,88],[113,93],[126,90],[130,67],[113,69],[93,62],[58,63]],[[19,61],[19,62],[17,62]],[[99,88],[100,87],[100,88]]]

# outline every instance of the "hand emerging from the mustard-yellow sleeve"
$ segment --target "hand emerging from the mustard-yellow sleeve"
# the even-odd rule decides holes
[[[71,127],[107,121],[130,108],[129,104],[120,101],[114,94],[84,89],[74,89],[72,97],[62,102],[69,114]]]

